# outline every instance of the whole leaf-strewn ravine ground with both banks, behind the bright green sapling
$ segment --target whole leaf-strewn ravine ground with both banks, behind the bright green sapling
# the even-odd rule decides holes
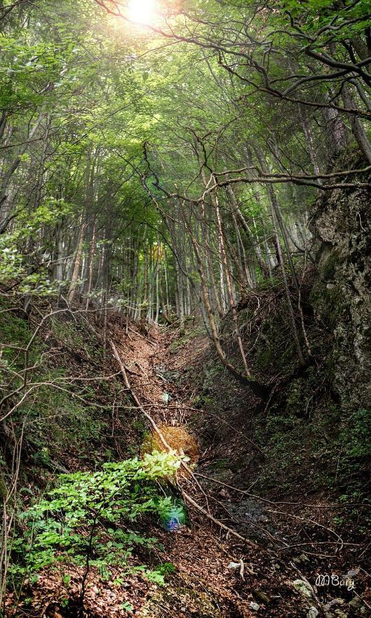
[[[309,296],[312,283],[310,279]],[[260,324],[268,341],[280,330],[280,293],[272,300],[277,310]],[[17,329],[15,339],[25,336],[29,327],[21,313],[8,316],[8,333]],[[29,323],[33,319],[36,316]],[[122,381],[110,341],[131,391]],[[229,345],[233,353],[232,339]],[[52,324],[45,321],[38,353],[43,354],[38,379],[58,387],[63,382],[68,395],[53,388],[41,391],[37,410],[30,409],[32,431],[27,431],[21,457],[24,498],[19,510],[27,510],[31,496],[54,483],[61,471],[99,470],[105,461],[140,453],[150,426],[133,393],[157,426],[185,428],[199,444],[195,479],[180,477],[179,488],[204,514],[188,504],[190,523],[172,531],[153,518],[137,524],[139,532],[146,529],[159,539],[162,548],[137,547],[129,563],[174,564],[174,573],[165,576],[166,586],[140,573],[124,575],[120,568],[106,581],[91,567],[84,615],[130,615],[124,603],[134,615],[146,617],[305,616],[312,606],[328,616],[365,615],[367,606],[357,595],[366,593],[368,603],[366,455],[355,450],[363,448],[356,430],[353,442],[344,444],[347,419],[341,417],[330,382],[319,379],[323,363],[308,367],[289,385],[278,382],[271,402],[262,407],[221,370],[200,329],[184,333],[148,328],[116,313],[109,315],[104,330],[97,317],[87,321],[78,313],[62,313]],[[268,375],[270,359],[266,355],[261,362],[267,363],[262,371]],[[5,435],[18,435],[22,422],[21,414],[12,424],[5,422]],[[9,485],[5,443],[3,452],[8,464],[3,479]],[[164,490],[181,499],[179,489]],[[240,540],[213,525],[208,509],[237,531]],[[335,573],[339,581],[353,573],[357,595],[348,590],[351,586],[315,588],[320,573]],[[81,567],[70,567],[63,580],[66,572],[61,576],[42,569],[37,582],[23,586],[19,604],[14,594],[8,596],[7,615],[77,615],[83,574]],[[295,584],[297,580],[304,584]],[[308,582],[313,591],[305,593]]]

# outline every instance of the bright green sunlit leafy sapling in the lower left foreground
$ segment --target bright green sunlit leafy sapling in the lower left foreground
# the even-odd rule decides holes
[[[11,572],[30,577],[60,563],[89,563],[109,579],[110,567],[124,565],[153,582],[164,582],[169,565],[155,571],[128,567],[135,546],[150,549],[157,544],[131,527],[144,516],[163,520],[172,512],[172,499],[159,495],[156,481],[170,477],[179,465],[175,453],[155,453],[142,461],[104,464],[98,472],[61,475],[45,499],[19,516],[23,534],[12,544]]]

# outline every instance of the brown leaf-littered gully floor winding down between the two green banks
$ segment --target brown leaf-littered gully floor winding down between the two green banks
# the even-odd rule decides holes
[[[188,525],[173,531],[150,525],[150,534],[164,547],[152,559],[170,562],[175,567],[166,576],[166,586],[133,575],[126,578],[120,590],[102,581],[99,573],[91,569],[85,615],[368,615],[370,592],[363,562],[366,546],[351,534],[344,540],[333,529],[334,516],[344,516],[344,505],[334,509],[325,491],[311,495],[310,483],[308,486],[300,482],[300,466],[291,485],[281,488],[279,478],[278,483],[271,479],[267,494],[251,493],[265,468],[265,454],[255,442],[249,416],[256,410],[256,401],[220,369],[211,378],[206,372],[205,378],[207,364],[212,366],[212,352],[205,335],[198,330],[188,336],[171,329],[126,323],[117,314],[109,319],[106,339],[115,344],[132,393],[157,426],[185,428],[199,444],[199,461],[193,470],[200,485],[183,475],[179,479],[181,491],[192,496],[203,510],[210,509],[214,518],[238,531],[251,545],[188,504]],[[106,375],[117,372],[117,363],[109,352],[103,367]],[[76,371],[82,371],[81,365]],[[216,397],[207,400],[205,392],[210,394],[213,389]],[[201,409],[201,403],[208,409]],[[134,424],[146,424],[138,409],[131,407],[131,414]],[[115,439],[117,453],[120,455],[123,439],[126,445],[122,453],[126,454],[128,449],[137,453],[140,445],[133,435],[133,419],[131,427],[126,428],[125,416],[120,418],[113,404],[109,422],[112,436],[121,434],[121,442]],[[71,449],[65,455],[63,464],[68,470],[80,469],[77,450],[74,453]],[[326,586],[325,582],[324,587],[316,587],[317,575],[331,574],[335,575],[332,585]],[[43,571],[37,584],[25,588],[27,599],[19,604],[18,613],[9,615],[77,615],[74,603],[66,602],[66,597],[73,599],[78,595],[79,570],[71,569],[70,575],[66,591],[58,572]],[[133,613],[122,608],[124,602],[130,602]],[[10,597],[8,607],[13,603],[14,597]]]

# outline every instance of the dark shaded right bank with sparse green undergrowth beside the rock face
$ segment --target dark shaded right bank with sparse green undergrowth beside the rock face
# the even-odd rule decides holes
[[[237,485],[238,479],[244,487],[254,483],[254,492],[275,498],[294,499],[300,491],[303,496],[326,494],[339,504],[358,503],[368,500],[370,411],[341,409],[333,390],[331,332],[311,317],[311,302],[319,302],[318,294],[317,288],[312,292],[308,289],[304,299],[314,360],[301,372],[297,371],[284,297],[277,301],[273,312],[263,316],[256,333],[249,337],[244,324],[254,317],[254,312],[249,308],[239,312],[247,347],[254,341],[254,350],[249,352],[254,374],[265,383],[271,380],[273,395],[268,404],[256,402],[211,354],[202,368],[198,366],[194,371],[198,389],[193,404],[205,411],[194,424],[206,446],[218,445],[215,459],[209,464],[213,476],[223,468]],[[335,310],[331,307],[329,311]],[[239,352],[231,320],[227,320],[222,332],[224,349],[236,364]]]

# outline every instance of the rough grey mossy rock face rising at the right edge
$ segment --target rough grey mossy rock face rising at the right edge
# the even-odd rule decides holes
[[[364,179],[363,179],[364,182]],[[370,192],[335,190],[317,201],[313,227],[319,242],[315,318],[333,333],[328,372],[341,408],[371,401]]]

